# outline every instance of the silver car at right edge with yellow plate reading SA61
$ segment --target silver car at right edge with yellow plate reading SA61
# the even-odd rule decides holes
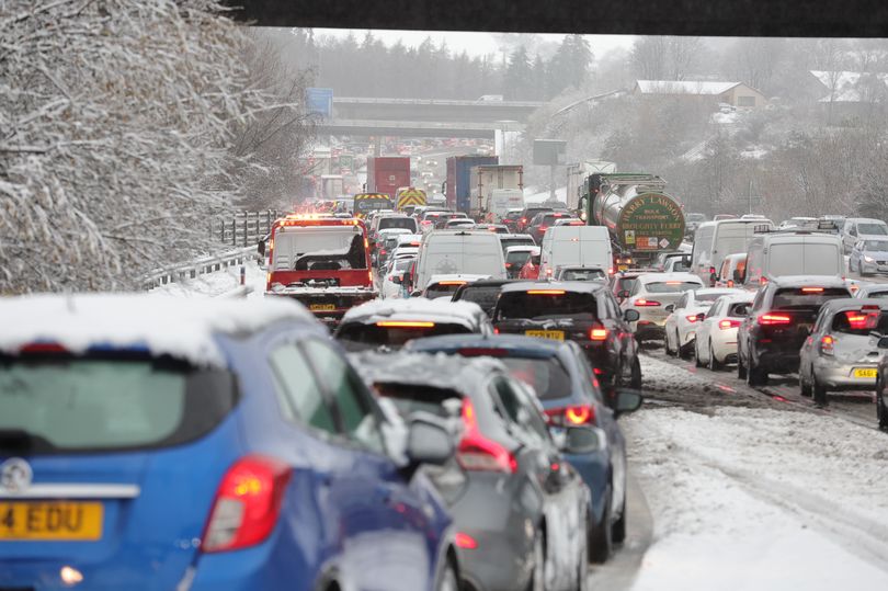
[[[870,332],[888,332],[888,300],[841,298],[820,308],[801,345],[798,382],[802,396],[827,404],[827,393],[875,390],[881,351]]]

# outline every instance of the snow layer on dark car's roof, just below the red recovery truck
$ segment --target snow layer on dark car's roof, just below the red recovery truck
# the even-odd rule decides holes
[[[371,323],[383,320],[425,320],[459,323],[477,330],[480,319],[487,316],[473,302],[439,302],[424,297],[408,299],[374,299],[355,306],[342,317],[342,323]]]

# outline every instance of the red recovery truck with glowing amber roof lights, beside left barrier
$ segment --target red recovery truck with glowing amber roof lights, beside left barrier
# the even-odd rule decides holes
[[[296,298],[328,325],[375,299],[364,223],[325,215],[277,219],[269,238],[265,295]]]

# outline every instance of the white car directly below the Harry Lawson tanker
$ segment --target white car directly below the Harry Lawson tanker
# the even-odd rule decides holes
[[[636,277],[631,292],[621,292],[623,310],[636,310],[638,320],[629,326],[639,341],[662,339],[669,311],[684,292],[702,289],[703,281],[693,273],[642,273]]]

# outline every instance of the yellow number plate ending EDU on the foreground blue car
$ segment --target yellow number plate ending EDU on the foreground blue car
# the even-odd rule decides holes
[[[101,539],[103,514],[96,502],[0,502],[0,542]]]

